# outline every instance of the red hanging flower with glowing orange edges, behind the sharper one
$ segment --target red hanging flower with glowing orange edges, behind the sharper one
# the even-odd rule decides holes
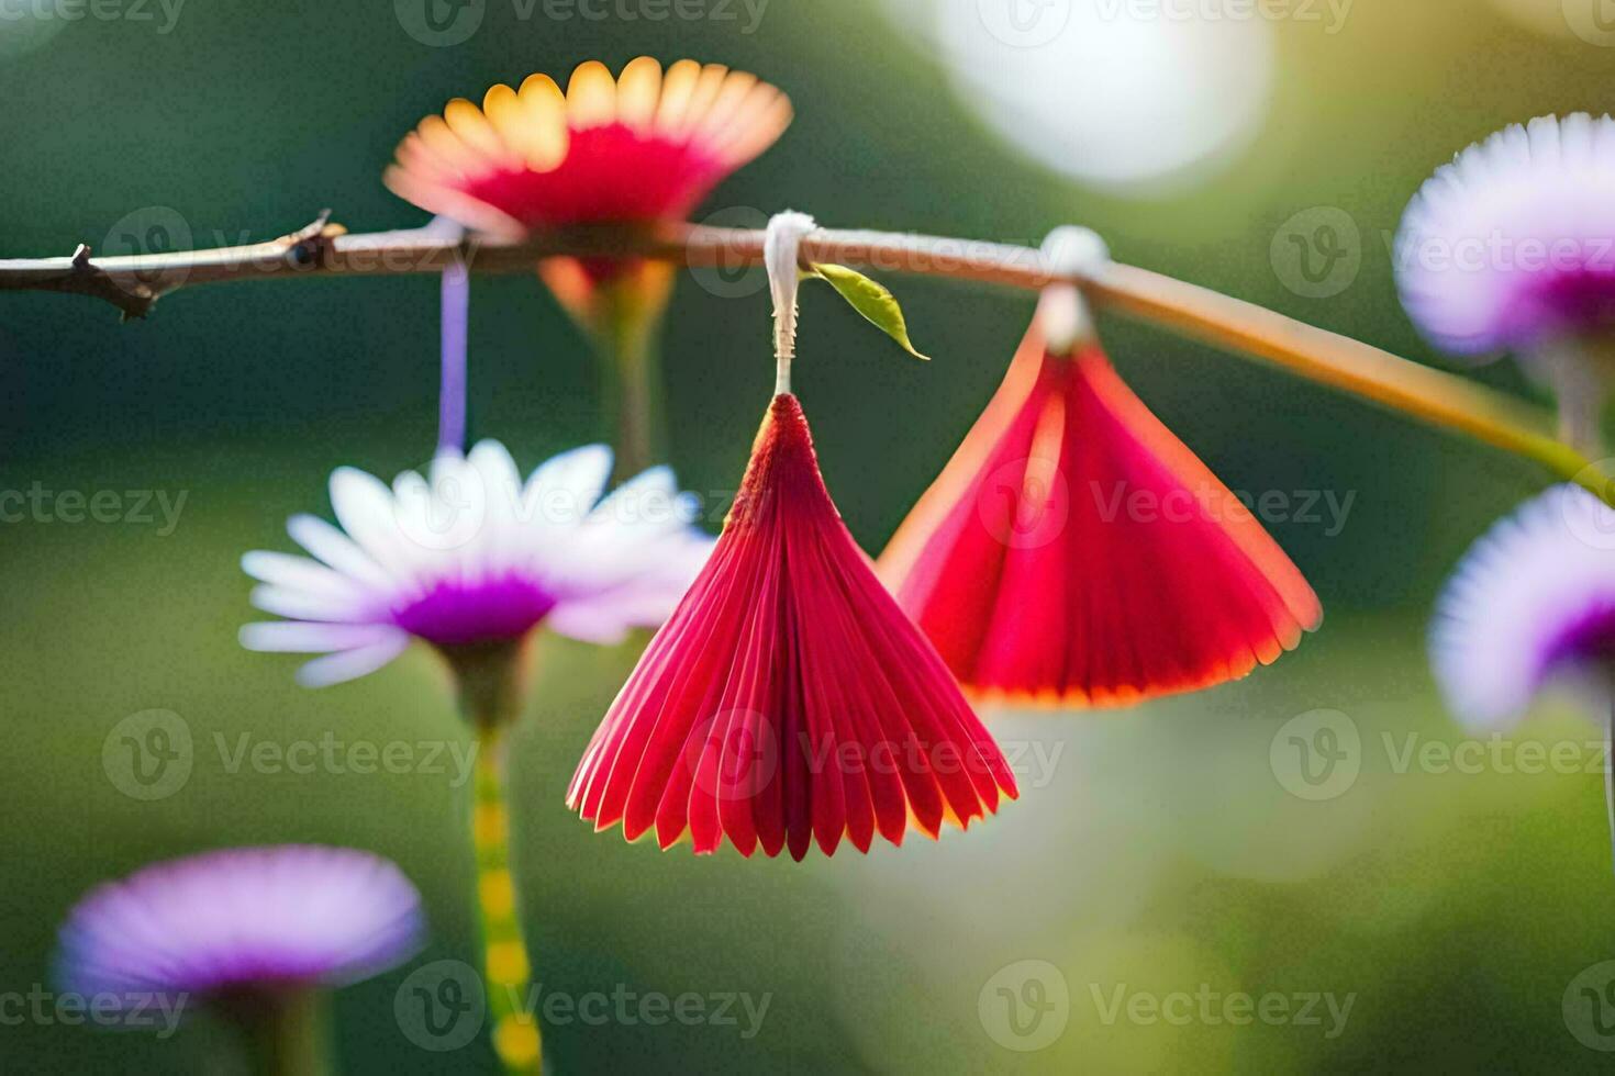
[[[1271,663],[1323,618],[1097,344],[1034,326],[880,574],[967,690],[1114,707]]]

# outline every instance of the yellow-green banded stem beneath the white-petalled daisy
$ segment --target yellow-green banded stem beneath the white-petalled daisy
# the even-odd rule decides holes
[[[510,874],[510,808],[504,792],[501,726],[478,724],[476,742],[472,844],[476,850],[476,910],[493,1045],[507,1073],[541,1073],[543,1044],[538,1020],[528,1008],[531,963]]]

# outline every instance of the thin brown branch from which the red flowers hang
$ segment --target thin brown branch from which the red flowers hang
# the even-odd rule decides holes
[[[347,234],[321,213],[279,239],[215,250],[95,258],[86,247],[69,258],[0,261],[0,290],[90,295],[124,316],[145,316],[163,295],[194,284],[287,276],[397,276],[443,273],[464,260],[478,273],[528,273],[556,255],[641,256],[686,266],[741,269],[762,263],[762,231],[677,224],[659,229],[577,227],[520,239],[467,236],[454,226]],[[803,239],[803,261],[874,271],[946,276],[1040,289],[1077,284],[1098,308],[1163,324],[1232,353],[1384,407],[1457,429],[1537,460],[1562,478],[1588,461],[1554,436],[1552,416],[1513,397],[1284,315],[1176,281],[1148,269],[1105,263],[1085,276],[1051,273],[1030,247],[938,236],[820,229]]]

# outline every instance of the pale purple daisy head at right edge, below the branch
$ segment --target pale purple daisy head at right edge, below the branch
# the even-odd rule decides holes
[[[1518,721],[1550,681],[1607,697],[1615,660],[1615,510],[1555,486],[1463,558],[1431,631],[1436,679],[1470,726]]]

